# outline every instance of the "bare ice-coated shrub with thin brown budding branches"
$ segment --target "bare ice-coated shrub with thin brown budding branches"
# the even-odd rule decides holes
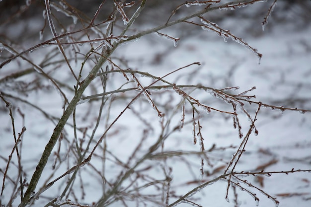
[[[25,9],[34,3],[26,2]],[[183,60],[165,64],[162,59],[171,47],[163,52],[159,39],[147,37],[156,34],[176,47],[180,38],[175,33],[190,39],[199,28],[241,44],[260,62],[262,54],[208,15],[239,12],[240,7],[263,2],[178,2],[157,5],[172,9],[166,20],[157,14],[162,23],[155,26],[157,21],[148,17],[151,7],[144,10],[147,0],[103,1],[91,17],[66,1],[45,0],[42,27],[31,24],[42,19],[34,17],[25,28],[39,31],[39,43],[25,49],[13,41],[15,34],[2,37],[0,68],[5,72],[0,98],[6,109],[1,113],[9,111],[10,120],[2,131],[6,129],[7,137],[13,134],[13,141],[3,140],[7,149],[1,150],[2,206],[200,206],[200,196],[194,195],[206,189],[212,189],[211,195],[222,189],[234,206],[241,205],[243,192],[256,205],[263,196],[278,206],[275,195],[264,189],[265,176],[310,172],[310,168],[266,170],[281,162],[274,152],[247,150],[251,137],[258,135],[256,124],[263,108],[310,110],[258,101],[252,94],[255,87],[239,91],[229,85],[234,66],[225,78],[228,85],[214,87],[217,78],[207,79],[200,72],[209,61],[207,66],[184,64],[191,52],[181,51]],[[276,0],[267,3],[263,26]],[[10,28],[21,31],[21,27],[17,22]],[[49,34],[52,37],[44,39]],[[23,38],[22,33],[16,36]],[[26,43],[36,41],[29,38]],[[146,62],[154,64],[149,64],[151,69]],[[217,138],[213,128],[230,135],[230,140]],[[255,155],[264,161],[251,163]]]

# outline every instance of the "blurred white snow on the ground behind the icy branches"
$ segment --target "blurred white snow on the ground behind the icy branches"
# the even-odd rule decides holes
[[[199,2],[198,2],[199,3]],[[187,5],[187,4],[186,4]],[[190,4],[189,4],[190,5]],[[194,5],[194,4],[191,4]],[[251,7],[251,6],[250,6]],[[123,9],[119,10],[120,13],[124,12]],[[124,23],[125,21],[123,16]],[[222,22],[223,25],[231,24],[234,20],[228,19]],[[269,20],[269,24],[272,21]],[[220,27],[222,25],[220,24]],[[259,24],[258,27],[261,27]],[[270,28],[270,31],[269,31]],[[231,29],[231,28],[230,28]],[[237,30],[239,30],[238,28]],[[241,29],[242,30],[242,29]],[[233,29],[231,29],[233,31]],[[174,31],[178,34],[178,31]],[[237,31],[240,34],[241,31]],[[162,33],[160,36],[163,37]],[[165,33],[166,34],[166,33]],[[176,39],[171,36],[164,36],[159,38],[156,35],[142,37],[138,41],[123,44],[116,50],[113,57],[120,57],[126,59],[125,63],[115,60],[122,69],[132,69],[144,72],[149,72],[156,77],[162,77],[167,73],[184,67],[191,63],[200,62],[201,65],[193,65],[185,69],[181,69],[176,73],[168,75],[164,79],[176,85],[181,84],[201,84],[203,86],[215,88],[235,87],[239,88],[231,92],[238,94],[243,91],[249,90],[253,86],[256,89],[247,92],[247,95],[256,95],[254,101],[261,101],[265,104],[276,106],[284,105],[284,107],[298,107],[299,109],[311,109],[311,94],[310,94],[310,34],[311,26],[307,25],[300,32],[294,28],[287,27],[286,24],[275,24],[272,27],[266,27],[265,32],[261,36],[253,37],[246,33],[242,33],[241,38],[245,40],[251,47],[256,48],[260,54],[263,54],[260,65],[258,65],[257,57],[249,50],[246,50],[240,44],[228,39],[224,42],[223,39],[213,32],[203,31],[201,28],[193,31],[191,37],[180,37],[178,45]],[[173,35],[175,37],[175,34]],[[177,35],[178,36],[178,35]],[[240,37],[239,35],[236,35]],[[125,36],[124,36],[125,37]],[[121,37],[122,38],[122,37]],[[41,39],[41,37],[40,37]],[[166,40],[168,39],[168,40]],[[125,40],[125,39],[122,39]],[[174,44],[171,44],[171,40]],[[29,43],[28,43],[29,44]],[[1,45],[2,48],[3,45]],[[4,46],[3,46],[4,47]],[[55,47],[55,46],[54,46]],[[80,48],[83,50],[85,44]],[[7,47],[2,48],[10,51]],[[39,49],[41,50],[41,49]],[[2,57],[3,57],[2,51]],[[15,53],[13,53],[15,54]],[[38,55],[38,50],[34,53]],[[27,54],[33,57],[32,54]],[[42,56],[44,53],[42,53]],[[81,57],[80,57],[81,58]],[[82,57],[84,58],[84,57]],[[76,70],[80,69],[81,60],[75,65]],[[41,59],[34,59],[34,62],[39,66]],[[56,60],[56,59],[54,59]],[[114,60],[114,59],[113,59]],[[88,64],[88,65],[87,65]],[[87,72],[93,66],[93,63],[87,63],[85,70],[82,73],[84,78]],[[18,71],[16,62],[12,62],[4,66],[0,70],[0,79],[10,74],[11,71]],[[48,64],[47,64],[48,65]],[[108,64],[108,68],[113,64]],[[20,68],[25,68],[27,65],[23,62],[19,63]],[[44,71],[49,71],[51,76],[60,82],[64,82],[69,87],[62,87],[68,100],[73,97],[73,85],[75,81],[71,78],[71,73],[66,67],[59,66],[60,70],[51,68],[43,68]],[[125,73],[131,79],[130,73]],[[14,110],[14,124],[16,133],[20,133],[23,126],[27,131],[22,137],[22,162],[23,170],[27,172],[28,181],[35,170],[36,162],[40,159],[44,147],[51,137],[58,119],[63,113],[65,99],[59,94],[58,89],[51,89],[52,83],[40,82],[42,74],[33,74],[32,78],[38,81],[38,85],[46,90],[38,90],[25,94],[18,94],[15,91],[9,91],[6,85],[0,82],[1,92],[11,92],[10,95],[19,97],[20,99],[27,100],[35,104],[42,111],[31,107],[26,102],[18,102],[16,98],[9,98],[12,109]],[[136,79],[137,78],[137,79]],[[99,79],[99,78],[97,78]],[[18,80],[27,81],[26,77],[21,77]],[[29,79],[28,79],[29,80]],[[143,86],[148,86],[156,79],[148,78],[145,75],[135,75],[135,82],[129,82],[124,77],[122,72],[107,74],[108,84],[107,91],[116,90],[118,88],[137,87],[138,80],[140,89]],[[111,81],[111,82],[109,82]],[[95,93],[102,93],[100,81],[94,83],[85,91],[84,96],[93,95]],[[160,85],[160,81],[156,85]],[[220,99],[214,98],[209,92],[193,88],[182,88],[189,96],[200,100],[200,103],[209,107],[217,108],[220,110],[229,110],[231,106],[221,102]],[[225,89],[226,90],[226,89]],[[171,170],[169,177],[172,178],[170,188],[174,190],[174,195],[184,195],[190,192],[193,188],[197,187],[204,182],[212,180],[220,174],[212,174],[211,176],[203,176],[200,179],[201,157],[202,155],[190,152],[200,152],[200,144],[193,144],[193,126],[192,126],[192,113],[191,106],[185,101],[185,96],[182,93],[170,92],[171,90],[151,90],[151,94],[144,92],[144,96],[132,103],[130,109],[125,110],[117,122],[108,130],[108,126],[120,115],[123,109],[128,107],[131,99],[134,98],[139,91],[132,91],[129,93],[122,93],[121,95],[114,94],[112,98],[108,99],[103,110],[101,122],[98,130],[95,132],[94,141],[90,143],[92,149],[99,138],[105,135],[104,143],[101,143],[95,150],[95,153],[90,160],[89,165],[80,168],[79,177],[77,182],[73,185],[77,190],[79,199],[84,197],[81,203],[91,204],[97,202],[102,196],[103,188],[111,189],[109,183],[114,183],[120,179],[127,170],[124,165],[133,167],[140,157],[144,156],[150,150],[153,144],[161,136],[165,137],[163,141],[163,148],[157,149],[154,153],[158,154],[156,158],[149,158],[146,162],[139,165],[137,170],[144,170],[151,167],[149,171],[144,174],[144,179],[138,181],[134,187],[143,186],[150,182],[151,177],[156,177],[158,180],[165,180],[168,172]],[[112,101],[113,98],[120,99],[120,101]],[[99,100],[101,97],[99,97]],[[295,102],[295,100],[302,100],[302,102]],[[5,158],[10,153],[14,145],[11,131],[11,119],[8,116],[8,110],[4,110],[1,102],[1,126],[0,126],[0,167],[5,170]],[[185,115],[184,125],[182,129],[171,131],[175,127],[181,125],[182,119],[182,106],[185,103],[184,110],[188,113]],[[66,105],[66,104],[65,104]],[[150,107],[152,105],[152,107]],[[67,105],[66,105],[67,106]],[[108,107],[109,106],[109,107]],[[177,107],[179,106],[179,107]],[[23,114],[23,118],[16,109],[19,109]],[[96,117],[99,113],[100,101],[92,101],[87,99],[80,101],[77,106],[77,139],[83,140],[84,145],[88,142],[92,130],[95,126]],[[111,109],[106,110],[106,109]],[[163,119],[158,119],[156,111],[165,114]],[[238,108],[238,107],[237,107]],[[209,159],[205,160],[203,166],[204,171],[213,172],[217,167],[226,165],[230,161],[232,154],[235,152],[234,148],[229,146],[238,146],[241,139],[238,137],[238,131],[233,128],[232,116],[219,113],[215,110],[206,113],[205,109],[197,107],[199,112],[195,115],[195,119],[200,118],[200,124],[203,126],[201,133],[204,137],[205,149],[210,149],[213,144],[216,147],[228,147],[227,149],[218,149],[208,152]],[[249,111],[252,118],[257,110],[257,105],[245,104],[245,109]],[[238,109],[237,109],[238,110]],[[45,114],[46,113],[46,114]],[[250,123],[245,114],[238,111],[239,122],[242,126],[243,135],[247,134]],[[225,118],[224,118],[225,117]],[[171,118],[170,122],[167,122]],[[271,108],[261,108],[255,122],[258,136],[251,134],[246,144],[246,152],[241,156],[235,171],[251,171],[256,167],[276,159],[276,164],[267,166],[265,171],[291,171],[292,168],[296,169],[311,169],[310,162],[310,148],[311,148],[311,113],[300,114],[297,111],[271,110]],[[51,182],[51,180],[63,175],[68,169],[77,165],[77,154],[71,151],[75,146],[75,135],[73,126],[74,121],[71,117],[68,124],[65,126],[62,139],[53,149],[52,155],[49,158],[48,166],[44,170],[42,180],[39,181],[39,186]],[[167,125],[164,128],[163,125]],[[86,130],[86,135],[83,135],[83,130]],[[197,132],[197,129],[196,129]],[[146,134],[145,134],[146,133]],[[168,136],[169,135],[169,136]],[[198,138],[199,139],[199,138]],[[198,141],[199,142],[199,141]],[[139,143],[143,143],[139,146]],[[107,150],[103,150],[104,144]],[[171,159],[164,160],[161,157],[161,150],[167,152],[189,152],[189,156],[171,154]],[[15,154],[16,155],[16,154]],[[87,157],[87,156],[86,156]],[[129,159],[131,157],[131,159]],[[103,163],[103,158],[105,163]],[[60,162],[62,159],[68,160]],[[208,162],[210,163],[208,163]],[[56,169],[53,171],[52,164],[56,163]],[[122,164],[120,164],[122,163]],[[9,177],[16,179],[17,167],[16,156],[13,157],[13,163],[9,168]],[[92,167],[89,167],[92,166]],[[223,173],[224,168],[220,173]],[[230,170],[229,170],[230,171]],[[259,170],[260,171],[260,170]],[[144,172],[144,171],[143,171]],[[106,183],[102,184],[101,173],[104,173]],[[69,178],[70,175],[66,175]],[[3,173],[0,174],[2,181]],[[129,177],[124,182],[121,188],[126,188],[131,185],[131,181],[138,179],[136,174]],[[150,179],[150,180],[149,180]],[[244,178],[243,178],[244,179]],[[256,177],[248,176],[245,178],[248,182],[256,187],[260,187],[259,181]],[[8,180],[8,179],[7,179]],[[67,180],[60,183],[55,183],[50,189],[43,193],[35,203],[35,206],[44,206],[47,201],[57,198],[64,190]],[[191,183],[197,181],[197,183]],[[165,181],[167,183],[167,181]],[[272,197],[277,197],[280,201],[279,207],[292,207],[299,204],[300,207],[310,206],[310,173],[297,172],[286,174],[272,174],[270,177],[264,176],[264,185],[260,188],[267,192]],[[10,197],[10,189],[12,186],[6,181],[4,194],[1,197],[1,202],[6,204]],[[228,203],[226,201],[227,181],[218,181],[200,189],[196,194],[192,195],[189,201],[194,201],[201,206],[213,207],[232,207],[234,206],[233,191],[229,190]],[[83,188],[81,187],[83,186]],[[157,186],[159,188],[160,185]],[[129,189],[133,189],[130,187]],[[160,186],[161,187],[161,186]],[[248,193],[240,191],[236,188],[238,193],[238,201],[240,206],[258,206],[259,207],[273,207],[276,206],[274,201],[268,199],[260,191],[249,188],[246,185],[242,186],[250,192],[256,194],[255,200]],[[147,188],[142,191],[145,195],[154,194],[158,189],[155,186]],[[36,192],[37,193],[37,192]],[[84,196],[82,196],[85,194]],[[286,194],[293,194],[291,197],[286,197]],[[302,196],[299,196],[301,194]],[[74,198],[74,196],[73,196]],[[73,199],[71,198],[71,199]],[[161,197],[155,197],[160,202]],[[177,197],[171,196],[169,204],[177,200]],[[64,199],[65,200],[65,199]],[[18,205],[19,200],[16,199],[14,204]],[[62,201],[58,200],[58,203]],[[135,205],[135,198],[128,198],[128,205]],[[259,203],[258,203],[259,202]],[[122,203],[115,203],[111,206],[119,206]],[[181,203],[179,207],[189,206],[189,202]]]

